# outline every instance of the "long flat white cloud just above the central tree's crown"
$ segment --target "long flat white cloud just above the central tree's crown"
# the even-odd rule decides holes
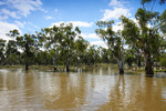
[[[60,26],[60,23],[63,23],[64,21],[60,21],[60,22],[55,22],[52,23],[52,26]],[[69,21],[69,22],[64,22],[64,23],[73,23],[73,27],[92,27],[93,22],[84,22],[84,21]],[[52,27],[51,26],[51,27]]]

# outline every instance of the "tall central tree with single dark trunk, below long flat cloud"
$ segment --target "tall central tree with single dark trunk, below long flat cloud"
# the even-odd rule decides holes
[[[75,53],[75,38],[81,33],[80,29],[76,27],[73,29],[72,23],[61,23],[60,24],[60,36],[61,36],[61,50],[63,60],[66,67],[66,71],[70,71],[70,60]]]

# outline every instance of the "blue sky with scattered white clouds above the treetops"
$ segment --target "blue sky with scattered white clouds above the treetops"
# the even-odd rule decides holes
[[[123,14],[135,20],[138,8],[141,0],[0,0],[0,38],[9,40],[6,33],[12,29],[22,34],[34,33],[41,28],[72,22],[91,44],[106,47],[94,32],[95,22],[114,20],[113,29],[117,31],[122,29],[118,18]],[[166,4],[160,6],[156,0],[153,10],[162,13],[165,9]]]

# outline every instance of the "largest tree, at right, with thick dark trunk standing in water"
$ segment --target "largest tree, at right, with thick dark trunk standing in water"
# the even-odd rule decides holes
[[[139,8],[135,18],[138,21],[138,26],[126,17],[121,18],[124,24],[123,34],[129,44],[142,50],[146,74],[154,74],[152,57],[159,53],[163,41],[158,28],[155,27],[158,21],[158,12],[151,12]],[[149,23],[151,27],[148,27]]]

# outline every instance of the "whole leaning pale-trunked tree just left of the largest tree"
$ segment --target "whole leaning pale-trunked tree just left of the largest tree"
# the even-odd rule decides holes
[[[113,57],[116,59],[118,63],[120,73],[124,73],[124,38],[120,31],[113,31],[113,20],[98,21],[96,26],[98,26],[101,29],[96,29],[95,32],[107,44]]]

